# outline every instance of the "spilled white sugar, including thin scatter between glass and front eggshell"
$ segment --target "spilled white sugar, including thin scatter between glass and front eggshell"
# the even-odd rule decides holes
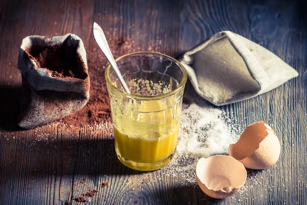
[[[225,111],[204,105],[192,104],[183,110],[180,123],[176,155],[160,172],[179,176],[186,183],[197,183],[195,168],[201,157],[227,155],[229,144],[243,131],[240,126],[230,126]]]

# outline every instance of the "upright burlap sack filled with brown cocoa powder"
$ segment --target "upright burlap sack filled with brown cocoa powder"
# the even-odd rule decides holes
[[[61,119],[80,110],[90,97],[86,53],[77,35],[24,38],[18,68],[23,78],[20,127]]]

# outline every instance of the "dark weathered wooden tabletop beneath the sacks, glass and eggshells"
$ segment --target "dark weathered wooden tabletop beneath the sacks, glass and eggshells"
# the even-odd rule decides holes
[[[74,187],[77,184],[98,190],[87,204],[306,204],[307,15],[303,2],[2,1],[0,204],[64,204],[65,200],[77,203],[72,199],[78,191]],[[220,107],[231,119],[237,119],[233,123],[243,127],[260,120],[272,125],[282,147],[277,165],[258,172],[257,184],[249,178],[247,184],[253,188],[246,192],[215,200],[198,186],[182,186],[180,176],[156,171],[152,180],[142,183],[141,173],[117,160],[112,130],[83,128],[68,133],[60,131],[58,125],[16,129],[21,40],[27,35],[71,32],[82,38],[90,56],[91,48],[96,46],[94,21],[104,30],[109,29],[112,39],[129,36],[140,47],[150,41],[160,42],[148,49],[174,57],[218,31],[231,30],[286,61],[299,72],[297,78],[266,94]],[[137,38],[137,34],[143,38]],[[91,69],[94,68],[89,67],[90,72]],[[189,83],[187,89],[192,89]],[[47,139],[34,141],[39,135]],[[109,186],[102,187],[102,182]]]

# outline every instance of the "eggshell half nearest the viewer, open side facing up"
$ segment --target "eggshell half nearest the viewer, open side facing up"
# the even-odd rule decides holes
[[[231,156],[201,158],[196,165],[196,178],[202,191],[212,198],[226,198],[240,190],[247,177],[242,163]]]

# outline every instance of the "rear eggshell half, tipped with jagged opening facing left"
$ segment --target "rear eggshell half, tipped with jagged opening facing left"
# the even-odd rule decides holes
[[[246,168],[266,169],[278,160],[280,143],[273,129],[260,121],[248,126],[239,140],[229,146],[229,155]]]

